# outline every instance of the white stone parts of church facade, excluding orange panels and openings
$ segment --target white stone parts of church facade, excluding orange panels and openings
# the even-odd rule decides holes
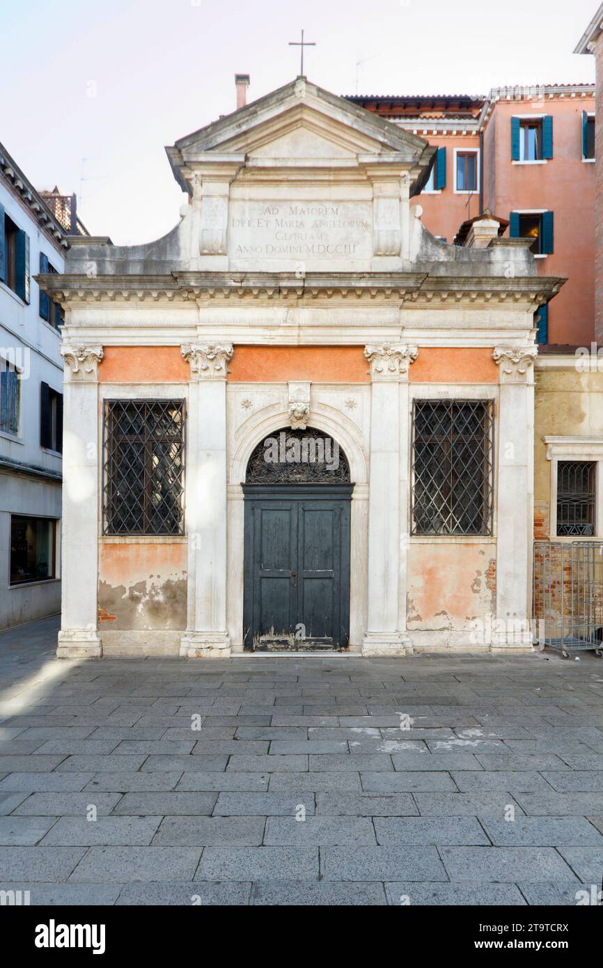
[[[178,390],[189,413],[188,627],[162,639],[166,650],[242,649],[247,461],[269,433],[305,425],[340,443],[355,485],[350,648],[480,648],[471,616],[445,630],[409,627],[410,410],[421,395],[494,401],[497,632],[488,648],[530,648],[528,634],[518,641],[505,629],[529,609],[533,313],[561,283],[537,277],[528,244],[493,239],[487,249],[457,249],[426,231],[420,210],[411,216],[409,197],[433,153],[422,138],[297,78],[168,149],[189,200],[166,238],[130,249],[92,240],[74,247],[65,277],[45,280],[66,310],[59,654],[106,647],[96,619],[99,402],[111,387],[98,361],[104,348],[133,346],[178,348],[190,365]],[[228,367],[245,346],[362,348],[370,381],[233,381]],[[487,349],[497,382],[467,383],[458,373],[413,382],[411,368],[430,348]],[[174,391],[169,382],[119,388]],[[129,637],[134,650],[150,649],[152,639],[152,631]]]

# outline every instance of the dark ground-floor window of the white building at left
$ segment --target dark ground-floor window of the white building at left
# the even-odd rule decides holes
[[[11,585],[56,577],[56,521],[11,517]]]

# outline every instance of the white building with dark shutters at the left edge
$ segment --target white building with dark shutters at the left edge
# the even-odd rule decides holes
[[[0,628],[60,611],[63,362],[68,231],[0,144]]]

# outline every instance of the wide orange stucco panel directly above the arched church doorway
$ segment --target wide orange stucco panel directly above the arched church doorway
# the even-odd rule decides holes
[[[309,379],[317,383],[369,382],[364,347],[234,348],[228,367],[232,382],[279,383]]]

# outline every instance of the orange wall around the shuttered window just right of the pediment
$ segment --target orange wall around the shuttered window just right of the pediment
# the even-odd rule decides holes
[[[428,134],[423,135],[423,131],[428,131]],[[420,122],[417,124],[417,132],[422,137],[426,137],[430,144],[446,149],[446,187],[438,194],[422,192],[421,195],[412,198],[410,204],[421,205],[423,225],[429,228],[433,235],[445,238],[446,242],[452,245],[463,223],[479,215],[479,183],[477,194],[471,197],[469,207],[467,207],[467,194],[457,195],[454,191],[454,150],[458,148],[460,151],[468,151],[479,148],[479,136],[432,136],[429,127],[422,127]]]

